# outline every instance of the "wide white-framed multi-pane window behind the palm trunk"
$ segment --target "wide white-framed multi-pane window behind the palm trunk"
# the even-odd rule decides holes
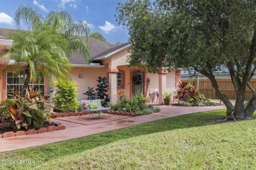
[[[34,90],[40,90],[41,95],[45,95],[45,78],[42,73],[38,74],[38,77],[35,78],[36,81],[29,82],[29,85],[33,85]],[[25,71],[20,70],[17,72],[9,72],[6,76],[6,95],[14,95],[13,91],[17,91],[18,94],[22,95],[23,84],[25,82]]]

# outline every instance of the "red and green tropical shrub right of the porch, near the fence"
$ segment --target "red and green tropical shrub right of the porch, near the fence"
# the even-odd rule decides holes
[[[179,82],[179,89],[177,90],[177,95],[175,99],[183,102],[185,106],[205,106],[213,105],[210,99],[204,97],[197,91],[196,87],[187,81]]]

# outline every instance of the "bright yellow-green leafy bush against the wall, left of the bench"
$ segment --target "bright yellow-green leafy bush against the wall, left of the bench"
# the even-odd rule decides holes
[[[76,82],[57,81],[55,86],[58,88],[53,97],[55,112],[76,112],[79,108],[79,103],[76,99]]]

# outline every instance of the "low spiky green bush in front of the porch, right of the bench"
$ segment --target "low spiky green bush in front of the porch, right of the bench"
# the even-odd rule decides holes
[[[133,96],[132,99],[123,97],[118,100],[116,105],[113,105],[111,108],[114,111],[119,112],[132,112],[135,115],[150,114],[154,112],[159,112],[159,108],[150,108],[146,105],[147,98],[142,94],[139,96]]]

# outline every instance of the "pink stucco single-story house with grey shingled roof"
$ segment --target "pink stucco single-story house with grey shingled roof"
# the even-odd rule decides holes
[[[0,29],[0,50],[8,50],[12,46],[12,40],[4,36],[15,30]],[[70,56],[72,64],[71,77],[77,82],[78,100],[85,99],[83,95],[87,87],[96,87],[99,76],[107,77],[109,81],[109,96],[112,103],[118,100],[118,91],[125,91],[127,97],[133,94],[142,93],[149,97],[151,102],[163,103],[161,94],[171,92],[177,88],[180,81],[180,71],[172,70],[166,72],[159,70],[157,73],[149,73],[147,70],[140,70],[138,67],[130,68],[127,63],[130,44],[125,43],[115,46],[100,40],[90,39],[90,62],[85,63],[81,56]],[[13,61],[0,61],[0,71]],[[7,73],[0,78],[0,100],[11,93],[11,88],[22,89],[22,81],[25,77],[23,71],[18,73]],[[138,83],[139,82],[139,83]],[[46,93],[46,80],[38,78],[36,86]],[[156,91],[159,92],[157,100]]]

